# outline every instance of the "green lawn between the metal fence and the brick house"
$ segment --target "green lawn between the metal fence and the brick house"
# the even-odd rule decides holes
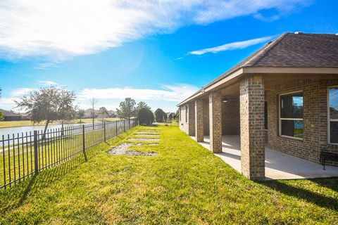
[[[250,181],[170,126],[133,148],[156,157],[106,153],[137,129],[1,190],[0,224],[337,224],[337,178]]]

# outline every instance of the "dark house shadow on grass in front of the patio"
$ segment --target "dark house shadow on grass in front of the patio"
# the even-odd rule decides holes
[[[327,188],[331,188],[333,191],[337,191],[337,183],[338,179],[310,179],[320,186],[325,186]],[[259,184],[263,184],[264,186],[268,186],[275,191],[280,193],[284,193],[285,195],[289,195],[295,198],[306,200],[308,203],[313,203],[320,207],[325,207],[331,210],[338,210],[338,198],[332,198],[329,196],[321,195],[320,193],[315,193],[313,191],[291,186],[285,184],[282,181],[258,181]]]

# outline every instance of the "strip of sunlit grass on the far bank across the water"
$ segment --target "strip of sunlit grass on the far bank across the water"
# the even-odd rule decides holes
[[[116,121],[116,120],[120,120],[119,118],[106,118],[104,119],[106,121]],[[92,122],[92,119],[82,119],[81,120],[84,123],[90,123]],[[101,119],[95,119],[95,122],[102,122]],[[80,120],[76,119],[76,120],[70,120],[67,121],[65,123],[79,123]],[[18,121],[0,121],[0,128],[4,128],[4,127],[26,127],[26,126],[44,126],[45,122],[40,122],[40,123],[36,123],[33,124],[30,120],[18,120]],[[61,124],[61,121],[54,121],[50,124]]]

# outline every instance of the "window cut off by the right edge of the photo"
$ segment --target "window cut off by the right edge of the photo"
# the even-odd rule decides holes
[[[328,96],[328,142],[338,143],[338,87],[330,87]]]

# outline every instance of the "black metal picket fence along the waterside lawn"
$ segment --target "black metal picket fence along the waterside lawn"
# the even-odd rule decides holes
[[[107,139],[131,129],[137,119],[2,135],[0,140],[0,188],[13,186],[27,176],[59,165]],[[1,168],[2,167],[2,168]]]

